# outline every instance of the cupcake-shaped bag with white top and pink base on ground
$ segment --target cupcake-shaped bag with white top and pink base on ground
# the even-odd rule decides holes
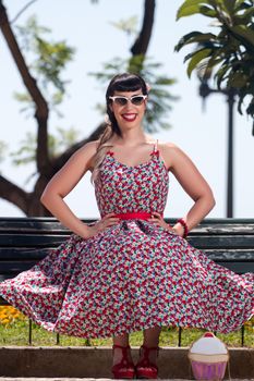
[[[192,344],[188,357],[196,380],[220,381],[225,377],[229,353],[226,345],[211,332],[206,332]]]

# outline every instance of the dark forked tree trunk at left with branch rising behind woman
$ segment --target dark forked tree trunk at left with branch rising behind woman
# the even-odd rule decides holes
[[[145,0],[144,2],[144,17],[140,35],[131,48],[133,56],[146,54],[148,44],[152,36],[154,25],[155,0]],[[13,182],[0,175],[0,197],[14,204],[26,216],[43,217],[50,216],[49,211],[40,204],[40,195],[43,194],[47,183],[57,171],[68,161],[68,159],[84,144],[98,139],[99,135],[105,128],[105,123],[99,126],[84,140],[76,143],[60,157],[50,160],[48,153],[48,114],[49,108],[46,99],[39,90],[36,79],[31,75],[28,66],[20,50],[16,38],[12,32],[5,8],[0,0],[0,28],[2,35],[12,53],[13,60],[16,64],[17,71],[21,74],[23,83],[35,103],[35,119],[37,122],[37,151],[36,164],[38,171],[38,180],[35,183],[34,190],[27,193]]]

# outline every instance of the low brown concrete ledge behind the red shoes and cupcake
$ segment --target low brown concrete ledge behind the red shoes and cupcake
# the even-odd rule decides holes
[[[193,379],[188,347],[161,347],[160,379]],[[138,348],[132,348],[133,360]],[[254,348],[230,348],[232,379],[254,379]],[[0,347],[0,377],[111,378],[111,347]],[[229,378],[228,371],[226,378]]]

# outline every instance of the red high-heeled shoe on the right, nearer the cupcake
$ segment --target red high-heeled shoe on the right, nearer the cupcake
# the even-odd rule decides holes
[[[157,365],[150,362],[149,352],[157,351],[157,356],[158,356],[159,347],[153,346],[153,347],[148,348],[147,346],[142,345],[141,348],[143,348],[143,351],[144,351],[144,357],[135,366],[136,378],[137,379],[157,379],[158,378],[158,367],[157,367]],[[140,348],[140,356],[141,356],[141,348]]]

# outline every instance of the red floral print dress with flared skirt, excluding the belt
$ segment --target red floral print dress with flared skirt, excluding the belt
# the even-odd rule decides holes
[[[164,213],[169,175],[157,145],[135,167],[108,151],[95,182],[101,216]],[[238,275],[176,233],[121,220],[83,239],[73,234],[0,295],[49,331],[110,337],[156,325],[228,333],[254,314],[254,273]]]

